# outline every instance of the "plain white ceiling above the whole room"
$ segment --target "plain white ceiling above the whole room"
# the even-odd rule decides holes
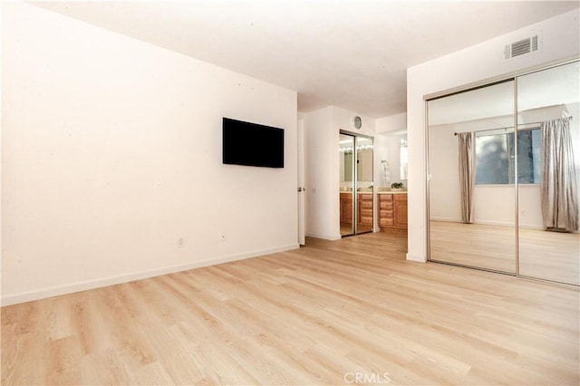
[[[578,1],[189,0],[34,5],[372,118],[406,111],[406,68]]]

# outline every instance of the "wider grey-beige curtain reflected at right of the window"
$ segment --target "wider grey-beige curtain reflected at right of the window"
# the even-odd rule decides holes
[[[574,151],[567,119],[542,124],[541,200],[544,227],[578,230],[578,194]]]

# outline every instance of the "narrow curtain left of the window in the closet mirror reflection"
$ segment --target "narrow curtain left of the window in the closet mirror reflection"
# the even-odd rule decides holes
[[[475,164],[473,146],[475,133],[461,132],[459,138],[459,188],[461,189],[461,220],[473,222],[473,187],[475,185]]]

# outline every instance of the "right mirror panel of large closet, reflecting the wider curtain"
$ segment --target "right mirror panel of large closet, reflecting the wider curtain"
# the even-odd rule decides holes
[[[578,63],[517,78],[519,275],[580,285]]]

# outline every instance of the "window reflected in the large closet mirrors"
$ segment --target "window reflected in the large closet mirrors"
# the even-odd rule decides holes
[[[517,131],[517,183],[540,182],[539,128]],[[513,132],[480,131],[475,140],[476,185],[514,183],[515,146]]]

